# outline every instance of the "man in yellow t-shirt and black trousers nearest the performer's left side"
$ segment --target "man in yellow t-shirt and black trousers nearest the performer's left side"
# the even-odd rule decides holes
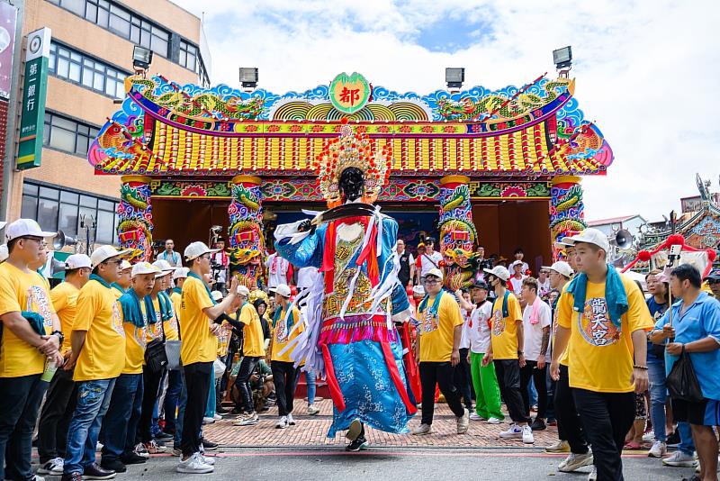
[[[250,295],[246,286],[238,287],[240,297],[240,318],[243,324],[243,358],[240,362],[238,377],[235,378],[235,386],[238,387],[240,399],[235,406],[234,412],[240,413],[238,420],[233,422],[236,426],[249,426],[257,424],[259,417],[253,405],[253,390],[250,386],[252,376],[257,363],[265,357],[265,337],[263,336],[263,325],[260,323],[260,316],[252,304],[247,302]]]

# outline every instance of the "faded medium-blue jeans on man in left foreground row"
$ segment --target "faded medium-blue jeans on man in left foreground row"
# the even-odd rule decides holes
[[[110,407],[116,377],[77,382],[77,404],[67,428],[64,474],[80,473],[95,462],[95,445]]]

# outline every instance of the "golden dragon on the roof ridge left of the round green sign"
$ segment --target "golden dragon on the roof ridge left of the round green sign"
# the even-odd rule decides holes
[[[157,85],[152,80],[133,77],[132,82],[136,86],[142,86],[138,91],[150,102],[185,117],[206,117],[212,113],[230,120],[254,120],[265,108],[265,100],[260,97],[247,100],[229,97],[223,100],[210,92],[190,96],[182,90],[155,95]]]

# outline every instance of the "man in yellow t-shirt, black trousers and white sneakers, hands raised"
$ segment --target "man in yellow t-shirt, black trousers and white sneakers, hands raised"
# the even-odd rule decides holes
[[[184,250],[190,271],[183,284],[179,315],[183,339],[180,358],[187,391],[187,402],[184,408],[179,406],[177,418],[178,423],[182,422],[183,454],[176,467],[179,473],[211,473],[213,470],[200,452],[200,430],[210,394],[212,363],[217,358],[215,333],[220,324],[214,321],[228,310],[238,290],[238,279],[233,277],[225,299],[220,304],[212,300],[210,287],[202,279],[211,273],[210,255],[214,251],[201,241],[192,242]]]

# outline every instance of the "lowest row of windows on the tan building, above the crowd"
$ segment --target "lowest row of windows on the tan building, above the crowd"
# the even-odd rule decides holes
[[[23,184],[23,219],[36,220],[45,231],[60,230],[73,237],[85,235],[81,222],[95,222],[94,239],[91,230],[90,241],[98,244],[117,243],[117,207],[117,200],[32,182]]]

